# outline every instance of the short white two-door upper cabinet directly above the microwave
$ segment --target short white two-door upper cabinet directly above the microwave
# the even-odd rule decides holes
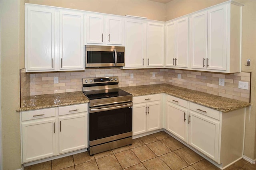
[[[86,43],[122,45],[123,27],[122,18],[87,14]]]

